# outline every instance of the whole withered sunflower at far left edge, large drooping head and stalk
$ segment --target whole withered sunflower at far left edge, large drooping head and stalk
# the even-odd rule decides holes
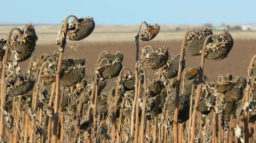
[[[13,38],[11,35],[13,31],[17,31]],[[6,76],[7,61],[13,62],[13,68],[15,72],[20,72],[20,66],[18,62],[23,62],[24,60],[31,57],[32,52],[35,50],[36,41],[38,37],[36,36],[35,29],[31,24],[27,24],[22,30],[19,28],[13,28],[10,30],[7,36],[6,44],[3,47],[5,50],[5,56],[2,64],[2,76],[1,76],[1,119],[0,119],[0,140],[5,141],[3,132],[5,128],[4,124],[4,112],[5,112],[5,99],[6,93],[3,92]],[[9,52],[10,51],[10,52]],[[10,65],[10,64],[9,64]]]

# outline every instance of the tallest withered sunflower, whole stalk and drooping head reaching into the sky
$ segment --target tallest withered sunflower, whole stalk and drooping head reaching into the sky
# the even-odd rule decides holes
[[[74,18],[71,24],[68,24],[69,18]],[[63,53],[66,45],[66,38],[73,41],[79,41],[88,37],[94,30],[95,23],[93,18],[81,18],[77,19],[75,15],[69,15],[65,19],[64,23],[61,24],[58,37],[57,46],[60,51],[59,62],[57,66],[56,74],[56,94],[55,94],[55,105],[54,105],[54,115],[53,115],[53,142],[57,142],[57,124],[59,122],[58,118],[58,105],[59,105],[59,88],[60,88],[60,71],[61,62],[63,59]]]

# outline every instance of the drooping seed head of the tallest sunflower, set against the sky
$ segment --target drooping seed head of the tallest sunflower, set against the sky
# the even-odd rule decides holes
[[[79,41],[88,37],[94,30],[95,23],[93,18],[73,19],[68,26],[67,38],[71,41]]]

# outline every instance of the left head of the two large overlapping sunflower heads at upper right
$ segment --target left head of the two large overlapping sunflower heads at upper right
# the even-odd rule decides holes
[[[189,56],[200,55],[199,51],[203,49],[204,41],[212,33],[212,29],[205,27],[198,29],[196,34],[190,33],[184,47],[184,52]]]

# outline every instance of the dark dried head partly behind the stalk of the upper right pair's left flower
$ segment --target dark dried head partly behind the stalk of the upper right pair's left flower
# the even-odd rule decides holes
[[[161,69],[162,74],[166,79],[172,79],[177,76],[177,73],[179,72],[179,60],[180,60],[180,54],[172,56],[172,58],[168,59],[166,66],[164,66]],[[185,59],[182,60],[181,71],[183,71],[184,68],[185,68]]]

